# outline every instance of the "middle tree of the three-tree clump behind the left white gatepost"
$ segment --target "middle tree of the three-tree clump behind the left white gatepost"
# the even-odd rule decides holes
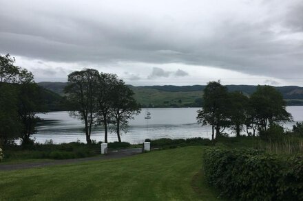
[[[104,126],[104,142],[107,143],[108,124],[111,121],[110,111],[112,108],[115,86],[122,80],[118,80],[116,74],[101,73],[98,79],[98,121]]]

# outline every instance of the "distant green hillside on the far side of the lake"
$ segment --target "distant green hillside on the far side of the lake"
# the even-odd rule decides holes
[[[50,91],[64,95],[63,88],[66,82],[39,82],[40,86]],[[201,106],[205,85],[194,86],[132,86],[136,100],[143,107],[195,107]],[[257,86],[227,85],[229,91],[242,91],[251,95]],[[275,86],[286,99],[289,105],[303,105],[303,87],[300,86]]]

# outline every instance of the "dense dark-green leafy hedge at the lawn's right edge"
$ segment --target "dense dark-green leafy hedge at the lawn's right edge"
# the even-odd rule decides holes
[[[205,178],[233,200],[303,200],[303,156],[258,150],[211,148],[204,153]]]

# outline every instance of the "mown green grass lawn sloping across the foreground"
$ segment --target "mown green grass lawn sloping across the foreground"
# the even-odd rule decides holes
[[[0,200],[216,200],[201,172],[203,149],[0,172]]]

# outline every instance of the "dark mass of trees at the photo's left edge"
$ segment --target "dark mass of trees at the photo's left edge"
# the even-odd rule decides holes
[[[14,62],[10,55],[0,55],[0,145],[15,139],[23,145],[32,143],[30,136],[39,121],[36,113],[47,110],[34,75]]]

